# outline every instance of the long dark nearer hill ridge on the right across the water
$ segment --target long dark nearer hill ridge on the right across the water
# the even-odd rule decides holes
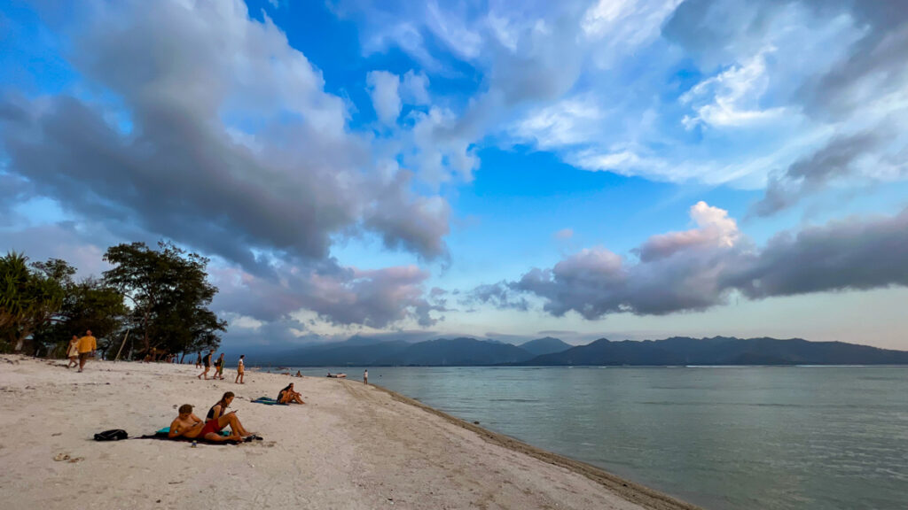
[[[611,341],[538,356],[549,365],[908,365],[908,352],[801,338],[686,338]]]

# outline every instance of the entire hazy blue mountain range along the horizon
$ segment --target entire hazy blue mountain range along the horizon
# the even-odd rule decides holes
[[[908,365],[908,351],[802,338],[688,338],[612,341],[571,346],[558,338],[520,345],[477,338],[439,338],[417,343],[345,342],[263,356],[260,365],[287,367],[485,367],[485,366],[677,366],[677,365]]]

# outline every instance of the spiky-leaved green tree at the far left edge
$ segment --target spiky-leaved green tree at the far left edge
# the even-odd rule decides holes
[[[63,305],[64,285],[75,272],[64,260],[36,263],[36,270],[29,270],[27,261],[15,251],[0,259],[0,335],[15,351],[51,324]]]

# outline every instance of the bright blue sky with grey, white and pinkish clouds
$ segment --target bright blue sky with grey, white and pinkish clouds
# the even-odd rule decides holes
[[[211,259],[223,345],[908,349],[908,5],[0,5],[0,252]]]

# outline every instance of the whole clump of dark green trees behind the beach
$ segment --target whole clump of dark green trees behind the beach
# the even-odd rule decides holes
[[[208,309],[218,291],[208,259],[170,242],[158,250],[133,242],[110,247],[104,261],[112,268],[102,278],[76,281],[65,260],[30,263],[15,251],[0,258],[0,351],[60,357],[87,329],[109,358],[219,345],[226,323]]]

